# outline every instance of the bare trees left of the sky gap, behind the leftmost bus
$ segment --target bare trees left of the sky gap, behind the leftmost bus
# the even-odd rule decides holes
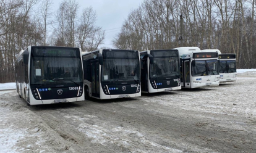
[[[92,7],[81,9],[77,1],[63,0],[53,9],[53,0],[0,1],[0,83],[15,81],[15,55],[27,46],[93,51],[103,43],[105,31],[96,26]]]

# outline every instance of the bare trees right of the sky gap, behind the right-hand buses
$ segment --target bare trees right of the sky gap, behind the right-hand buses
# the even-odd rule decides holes
[[[219,49],[236,53],[237,68],[255,68],[254,9],[255,0],[145,0],[130,12],[113,44],[140,51]]]

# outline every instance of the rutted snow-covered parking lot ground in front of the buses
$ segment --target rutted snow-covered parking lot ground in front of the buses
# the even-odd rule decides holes
[[[0,84],[1,152],[256,152],[254,69],[205,89],[28,107]],[[207,99],[207,101],[205,100]]]

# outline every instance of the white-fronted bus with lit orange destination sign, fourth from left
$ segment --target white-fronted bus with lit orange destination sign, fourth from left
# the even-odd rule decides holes
[[[201,88],[220,85],[218,52],[202,52],[197,47],[181,47],[181,87]]]

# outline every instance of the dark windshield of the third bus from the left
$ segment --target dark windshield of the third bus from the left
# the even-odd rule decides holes
[[[178,51],[151,51],[154,64],[150,65],[150,78],[179,76]]]

